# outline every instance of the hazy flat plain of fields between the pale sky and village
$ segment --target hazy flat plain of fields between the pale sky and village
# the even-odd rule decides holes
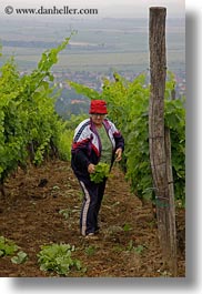
[[[168,67],[174,70],[184,65],[185,70],[185,30],[178,21],[171,24],[166,34]],[[57,71],[104,71],[109,68],[142,71],[149,67],[145,20],[70,23],[10,21],[7,26],[0,26],[0,38],[7,44],[3,45],[1,60],[14,55],[20,70],[33,69],[46,48],[55,47],[70,36],[71,30],[78,33],[71,38],[71,45],[60,54],[59,63],[54,67]]]

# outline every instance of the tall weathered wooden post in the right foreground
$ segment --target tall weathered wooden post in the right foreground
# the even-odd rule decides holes
[[[150,8],[149,144],[155,193],[159,241],[164,263],[176,275],[176,234],[170,130],[164,128],[166,9]]]

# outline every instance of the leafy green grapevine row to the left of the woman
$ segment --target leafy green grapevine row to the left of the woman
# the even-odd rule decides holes
[[[70,38],[47,50],[30,74],[20,75],[14,60],[0,69],[0,185],[18,165],[39,164],[59,152],[64,123],[54,111],[51,67]],[[1,191],[2,192],[2,191]]]

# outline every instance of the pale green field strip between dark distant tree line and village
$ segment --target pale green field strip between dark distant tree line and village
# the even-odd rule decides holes
[[[13,53],[13,48],[7,48],[7,52]],[[40,60],[43,50],[18,48],[16,62],[22,68],[34,68]],[[179,63],[184,62],[184,54],[180,51],[171,51],[168,57],[168,67],[172,69]],[[54,65],[57,71],[63,70],[84,70],[94,69],[94,71],[115,69],[139,69],[147,70],[149,67],[149,52],[117,52],[117,53],[71,53],[59,55],[59,62]]]

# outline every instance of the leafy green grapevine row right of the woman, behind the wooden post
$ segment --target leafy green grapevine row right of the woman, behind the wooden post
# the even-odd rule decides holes
[[[132,82],[114,73],[114,81],[105,79],[102,92],[97,92],[70,82],[77,92],[90,99],[104,99],[108,102],[109,118],[121,130],[125,140],[122,168],[133,192],[140,199],[152,200],[154,189],[149,154],[149,97],[150,85],[145,74]],[[172,168],[175,199],[185,202],[185,98],[172,99],[174,77],[168,73],[165,90],[165,125],[171,131]]]

